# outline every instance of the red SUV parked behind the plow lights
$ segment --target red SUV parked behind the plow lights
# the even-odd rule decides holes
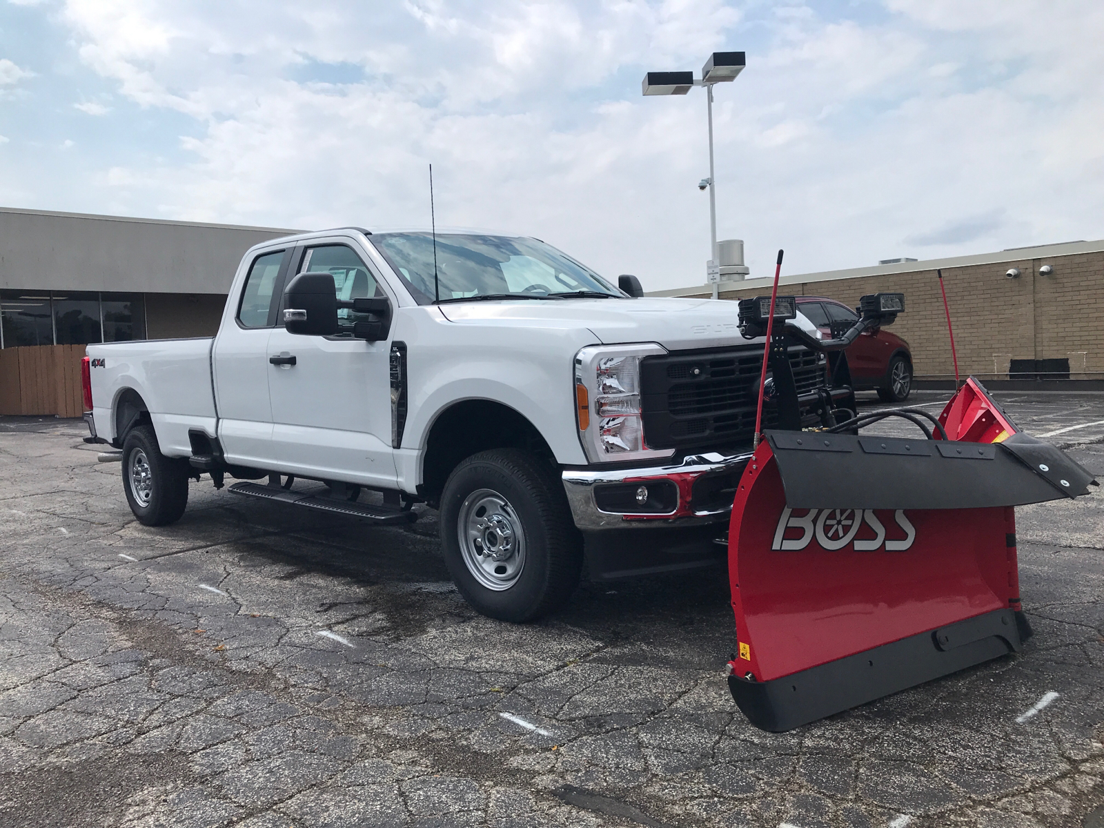
[[[797,309],[826,336],[831,336],[832,322],[846,322],[842,327],[849,328],[859,318],[842,302],[822,296],[798,296]],[[860,333],[847,349],[847,365],[856,391],[875,389],[888,403],[909,399],[912,354],[901,337],[881,328]]]

